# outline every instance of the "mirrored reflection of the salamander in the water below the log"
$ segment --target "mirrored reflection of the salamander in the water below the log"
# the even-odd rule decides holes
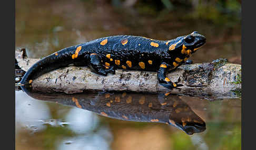
[[[205,130],[205,122],[179,97],[138,93],[26,93],[38,100],[89,110],[114,119],[171,124],[187,134]],[[161,96],[163,95],[163,97]]]

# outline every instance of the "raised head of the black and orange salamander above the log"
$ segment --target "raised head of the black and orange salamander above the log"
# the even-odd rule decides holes
[[[206,38],[203,35],[200,35],[197,31],[193,33],[178,37],[170,41],[169,50],[171,51],[180,51],[182,54],[191,55],[200,47],[202,47],[206,42]]]

